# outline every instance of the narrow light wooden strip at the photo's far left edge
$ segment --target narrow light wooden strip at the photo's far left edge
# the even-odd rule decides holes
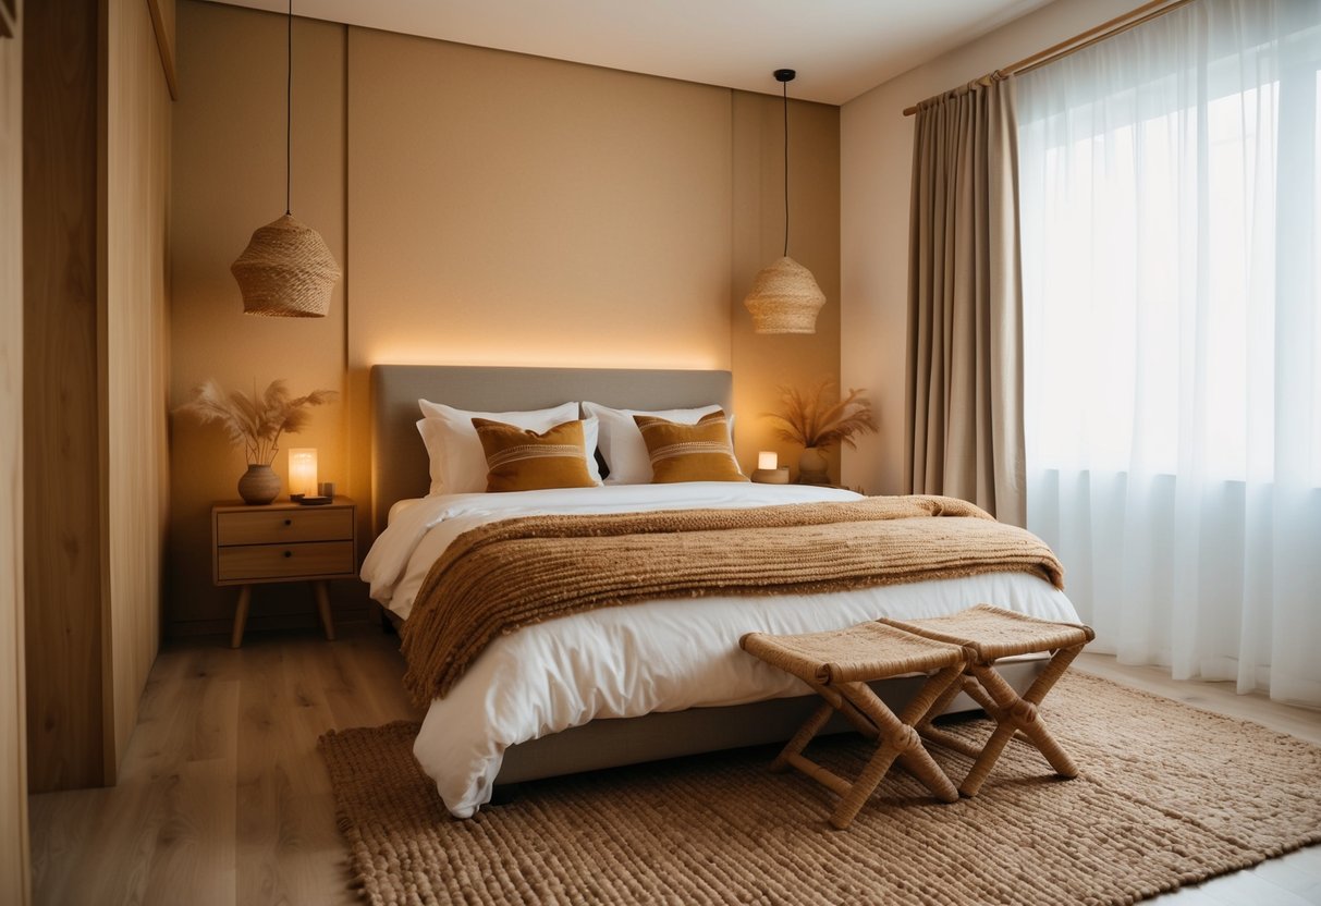
[[[21,15],[21,5],[13,7]],[[29,898],[22,639],[22,28],[0,38],[0,903]]]

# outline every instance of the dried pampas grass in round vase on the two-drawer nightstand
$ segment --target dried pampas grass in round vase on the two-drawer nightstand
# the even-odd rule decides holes
[[[271,464],[279,452],[281,435],[296,435],[312,417],[308,409],[336,398],[332,390],[314,390],[292,396],[284,380],[272,380],[266,392],[248,396],[238,390],[226,392],[214,380],[193,390],[193,399],[178,407],[203,424],[215,421],[234,446],[243,449],[247,471],[239,478],[239,497],[246,503],[269,503],[280,494],[280,477]]]

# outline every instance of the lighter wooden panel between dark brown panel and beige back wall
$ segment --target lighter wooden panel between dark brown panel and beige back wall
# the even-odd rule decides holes
[[[107,779],[137,720],[160,641],[165,449],[170,99],[148,4],[108,9],[102,309],[110,623]]]

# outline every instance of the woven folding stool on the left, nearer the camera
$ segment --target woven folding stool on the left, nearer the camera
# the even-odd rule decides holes
[[[803,680],[824,699],[770,769],[797,767],[838,792],[841,799],[830,818],[836,828],[843,831],[852,824],[896,759],[942,802],[959,798],[954,783],[922,748],[922,738],[914,726],[927,720],[934,703],[945,697],[946,689],[958,688],[966,656],[963,648],[881,623],[860,623],[804,635],[749,633],[738,643],[749,654]],[[904,674],[931,675],[902,713],[896,716],[867,683]],[[835,711],[864,736],[880,742],[852,783],[802,755]]]

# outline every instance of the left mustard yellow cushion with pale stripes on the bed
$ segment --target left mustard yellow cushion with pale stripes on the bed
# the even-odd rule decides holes
[[[489,419],[473,419],[486,453],[487,491],[596,487],[587,470],[583,423],[565,421],[536,433]]]

